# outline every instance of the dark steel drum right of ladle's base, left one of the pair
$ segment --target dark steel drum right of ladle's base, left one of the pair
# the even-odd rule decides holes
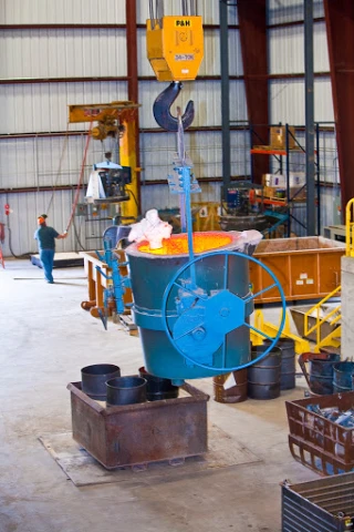
[[[252,359],[258,358],[268,346],[252,347]],[[273,347],[260,362],[248,368],[248,397],[251,399],[275,399],[280,396],[281,350]]]

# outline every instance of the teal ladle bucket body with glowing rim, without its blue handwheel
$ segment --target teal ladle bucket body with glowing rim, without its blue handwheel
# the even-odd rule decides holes
[[[171,241],[177,241],[184,235],[171,235]],[[194,233],[194,238],[208,236],[225,238],[229,244],[209,249],[210,252],[237,250],[242,247],[239,233],[207,232]],[[162,318],[164,294],[174,275],[187,263],[189,255],[181,253],[176,255],[150,254],[140,250],[140,244],[132,244],[125,249],[129,262],[131,284],[134,294],[133,315],[135,324],[139,328],[139,337],[144,352],[144,366],[155,376],[183,381],[202,377],[215,377],[225,374],[223,367],[232,368],[247,364],[250,360],[250,334],[247,326],[238,327],[228,334],[226,352],[219,349],[209,365],[207,359],[204,366],[192,364],[173,346]],[[196,253],[196,257],[206,255]],[[249,245],[247,252],[254,250]],[[223,286],[225,256],[214,255],[199,260],[196,267],[196,284],[208,294]],[[229,285],[228,289],[239,297],[249,296],[249,260],[247,257],[232,256],[229,259]],[[253,301],[246,304],[246,319],[253,311]],[[175,299],[168,304],[168,319],[177,320]],[[191,352],[191,356],[194,352]],[[225,355],[225,358],[223,358]],[[225,360],[225,364],[222,364]],[[204,362],[202,360],[200,360]],[[211,367],[212,366],[212,367]],[[217,367],[222,369],[216,369]]]

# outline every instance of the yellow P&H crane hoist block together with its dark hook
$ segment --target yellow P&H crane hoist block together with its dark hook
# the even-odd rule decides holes
[[[154,103],[156,122],[167,131],[178,130],[178,119],[170,106],[181,90],[183,81],[197,78],[204,58],[202,19],[196,14],[196,0],[181,0],[181,14],[165,16],[164,0],[149,0],[146,48],[147,59],[158,81],[170,81]],[[181,116],[183,127],[194,120],[194,102]]]

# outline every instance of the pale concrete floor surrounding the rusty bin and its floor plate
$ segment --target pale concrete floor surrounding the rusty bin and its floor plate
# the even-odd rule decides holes
[[[0,268],[0,531],[1,532],[278,532],[280,482],[319,478],[288,448],[284,400],[220,405],[211,379],[195,385],[211,395],[208,412],[232,439],[261,459],[174,481],[132,481],[76,488],[41,446],[45,433],[71,430],[67,382],[83,366],[117,364],[124,375],[142,366],[139,339],[81,309],[83,269],[54,270],[48,285],[30,262]],[[272,310],[274,313],[274,310]],[[231,444],[232,444],[231,439]]]

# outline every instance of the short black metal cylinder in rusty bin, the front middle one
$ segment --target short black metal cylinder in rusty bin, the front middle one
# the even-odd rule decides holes
[[[146,401],[146,379],[138,376],[116,377],[106,382],[107,405],[135,405]]]

